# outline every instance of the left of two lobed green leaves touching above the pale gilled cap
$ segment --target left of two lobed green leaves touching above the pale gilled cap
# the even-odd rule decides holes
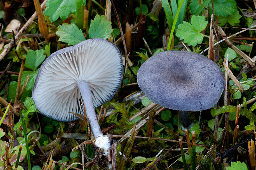
[[[75,45],[81,41],[84,41],[84,34],[76,24],[63,23],[61,26],[58,26],[58,31],[56,34],[60,37],[59,41],[66,42],[68,45]]]

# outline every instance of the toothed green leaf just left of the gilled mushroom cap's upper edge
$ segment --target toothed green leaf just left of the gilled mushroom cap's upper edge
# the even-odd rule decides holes
[[[26,55],[25,67],[35,71],[37,67],[43,63],[46,55],[44,55],[44,50],[28,50],[28,55]]]

